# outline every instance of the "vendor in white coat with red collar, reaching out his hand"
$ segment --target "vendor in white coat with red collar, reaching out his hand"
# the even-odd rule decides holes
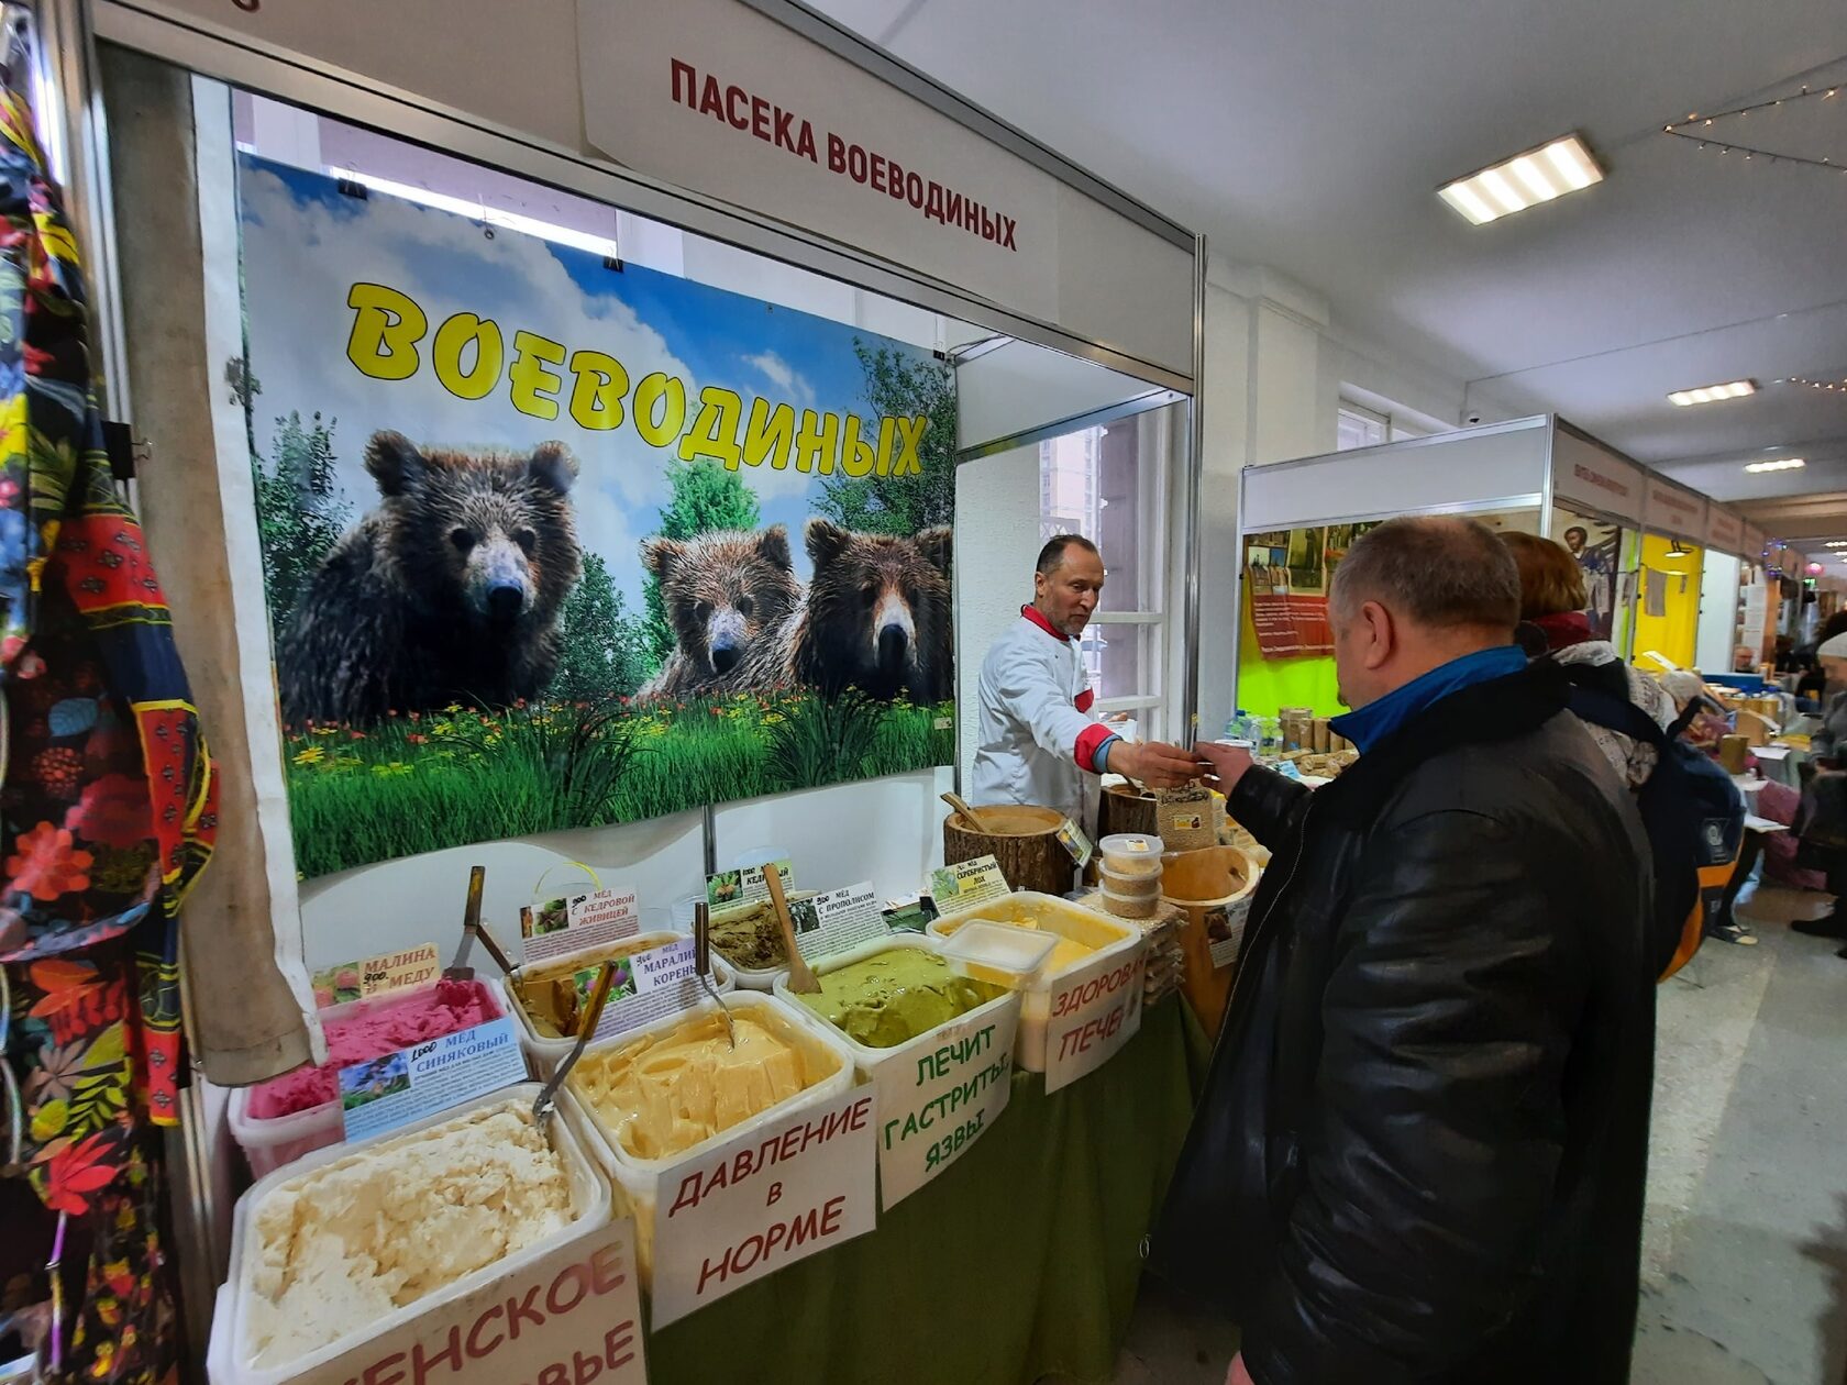
[[[1045,543],[1032,604],[981,665],[981,742],[970,803],[1036,803],[1095,824],[1099,776],[1173,789],[1201,774],[1178,746],[1123,741],[1090,715],[1077,641],[1103,591],[1103,556],[1080,534]]]

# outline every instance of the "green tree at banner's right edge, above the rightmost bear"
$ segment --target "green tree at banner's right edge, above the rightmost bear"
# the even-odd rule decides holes
[[[866,534],[916,534],[955,523],[955,377],[940,360],[853,342],[874,417],[929,419],[918,476],[842,476],[822,482],[816,513]]]

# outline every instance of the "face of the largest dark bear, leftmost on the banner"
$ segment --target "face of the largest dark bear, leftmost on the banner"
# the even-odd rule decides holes
[[[432,619],[504,635],[556,617],[582,569],[565,499],[578,464],[563,443],[464,456],[377,432],[366,469],[388,548]]]

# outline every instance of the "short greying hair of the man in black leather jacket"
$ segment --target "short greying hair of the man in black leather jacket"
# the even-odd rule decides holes
[[[1476,519],[1387,519],[1346,550],[1328,602],[1341,620],[1380,602],[1420,626],[1511,635],[1520,622],[1520,571],[1494,530]]]

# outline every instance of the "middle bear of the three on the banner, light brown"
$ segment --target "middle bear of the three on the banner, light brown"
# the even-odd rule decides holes
[[[802,600],[789,530],[718,530],[694,539],[654,537],[641,561],[661,584],[676,648],[641,696],[685,696],[739,685],[746,656],[774,639]]]

